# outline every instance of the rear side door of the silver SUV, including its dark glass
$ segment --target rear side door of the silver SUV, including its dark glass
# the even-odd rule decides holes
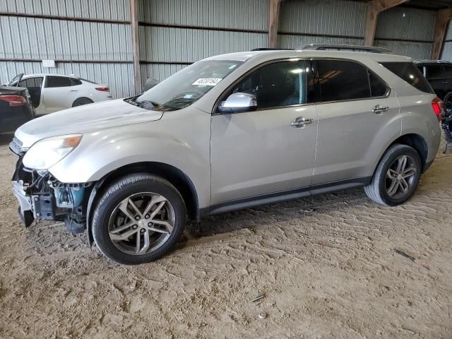
[[[388,140],[400,134],[396,93],[362,64],[344,60],[315,64],[321,102],[312,184],[362,184],[370,179]]]

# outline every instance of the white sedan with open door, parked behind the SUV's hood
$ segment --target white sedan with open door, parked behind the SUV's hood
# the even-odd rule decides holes
[[[20,73],[8,85],[28,88],[38,115],[112,99],[108,85],[76,76]]]

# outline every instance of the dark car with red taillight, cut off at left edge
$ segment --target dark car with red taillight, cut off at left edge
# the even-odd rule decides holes
[[[27,88],[0,86],[0,133],[16,129],[35,118]]]

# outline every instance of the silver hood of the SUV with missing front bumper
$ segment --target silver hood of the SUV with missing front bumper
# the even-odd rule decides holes
[[[28,148],[43,138],[155,121],[162,114],[133,106],[121,99],[109,100],[47,114],[20,126],[15,136],[23,143],[23,148]]]

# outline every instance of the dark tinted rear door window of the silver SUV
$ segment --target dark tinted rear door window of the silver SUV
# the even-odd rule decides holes
[[[371,97],[369,74],[365,66],[351,61],[316,62],[322,102]]]

